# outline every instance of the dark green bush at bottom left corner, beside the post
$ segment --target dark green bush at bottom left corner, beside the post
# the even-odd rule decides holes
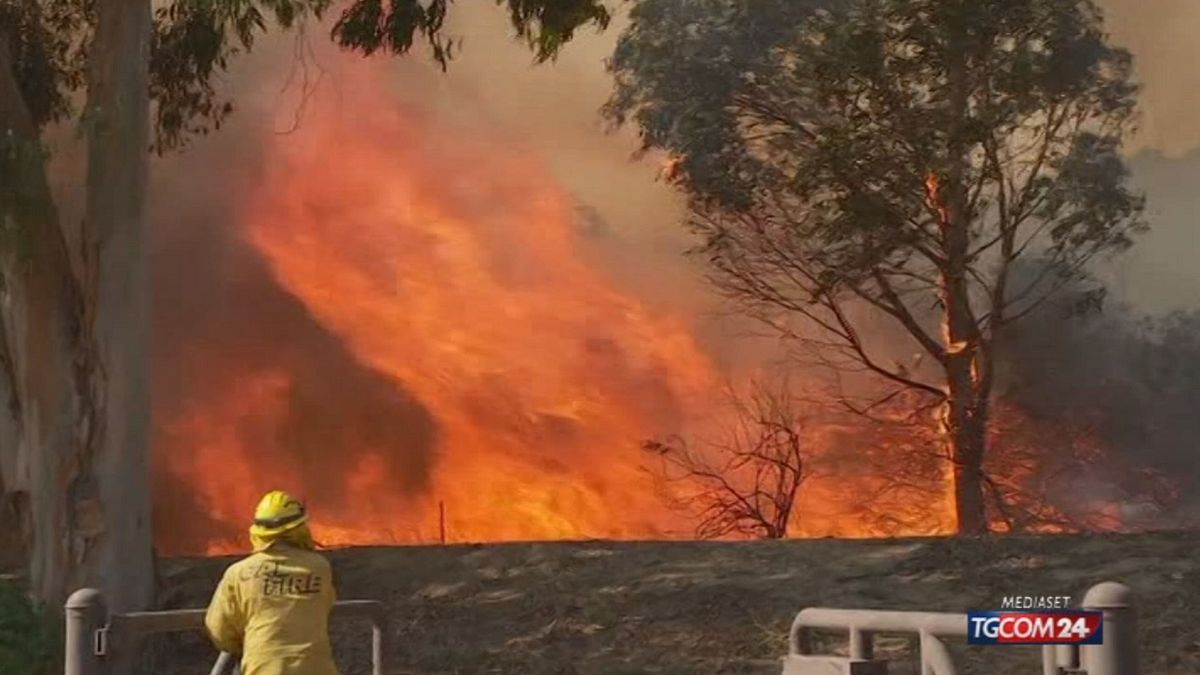
[[[8,581],[0,581],[0,673],[50,675],[62,653],[56,622]]]

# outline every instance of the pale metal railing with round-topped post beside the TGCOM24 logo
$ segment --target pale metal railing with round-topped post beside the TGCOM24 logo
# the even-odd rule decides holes
[[[1111,581],[1099,584],[1084,596],[1082,607],[1104,614],[1104,644],[1043,647],[1043,675],[1138,675],[1138,625],[1129,589]],[[847,631],[848,657],[814,655],[811,632],[821,629]],[[886,662],[874,658],[875,633],[916,633],[922,674],[956,675],[942,638],[966,638],[967,615],[809,608],[792,621],[784,675],[887,673]]]

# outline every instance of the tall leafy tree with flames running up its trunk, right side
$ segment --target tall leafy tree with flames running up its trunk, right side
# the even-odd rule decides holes
[[[856,410],[940,411],[962,533],[989,527],[997,336],[1142,228],[1132,60],[1102,23],[1086,0],[642,0],[611,64],[607,114],[673,157],[716,287],[870,376]]]

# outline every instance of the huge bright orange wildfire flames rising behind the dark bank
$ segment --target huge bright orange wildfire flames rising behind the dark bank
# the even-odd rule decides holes
[[[206,516],[160,536],[166,552],[245,549],[254,502],[277,488],[310,501],[330,545],[437,542],[443,528],[451,542],[689,536],[694,521],[664,504],[640,450],[718,414],[707,406],[720,374],[688,318],[650,312],[588,264],[576,205],[535,157],[420,121],[379,71],[354,72],[338,106],[311,107],[270,143],[238,209],[241,239],[431,429],[414,423],[398,448],[373,434],[396,420],[368,416],[338,437],[353,447],[287,460],[294,440],[280,429],[306,366],[247,366],[220,396],[158,420],[160,471],[190,494],[162,488],[157,508],[191,500]],[[937,190],[930,173],[935,203]],[[350,394],[334,374],[320,395]],[[880,436],[846,461],[871,431],[812,431],[829,471],[805,483],[793,536],[953,530],[936,443]],[[906,444],[932,495],[890,480]]]

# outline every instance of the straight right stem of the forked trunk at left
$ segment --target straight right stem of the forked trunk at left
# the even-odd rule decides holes
[[[106,536],[85,565],[109,607],[154,601],[150,531],[150,312],[145,201],[150,144],[149,0],[102,0],[89,53],[83,287],[101,369],[94,485]]]

